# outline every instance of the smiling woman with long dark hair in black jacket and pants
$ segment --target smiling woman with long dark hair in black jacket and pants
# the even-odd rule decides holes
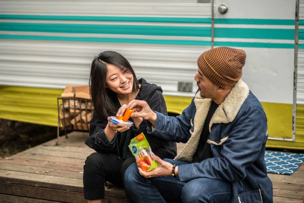
[[[134,99],[146,101],[152,110],[168,115],[161,87],[143,78],[137,80],[132,66],[121,54],[99,53],[92,61],[89,81],[94,112],[90,137],[85,143],[96,153],[85,162],[84,195],[88,202],[102,202],[106,181],[124,187],[124,173],[135,162],[128,148],[132,138],[143,132],[153,152],[162,159],[176,156],[176,143],[150,136],[147,121],[140,117],[128,119],[134,123],[133,127],[110,121],[111,116],[123,115],[127,104]],[[126,202],[133,202],[126,189],[125,194]]]

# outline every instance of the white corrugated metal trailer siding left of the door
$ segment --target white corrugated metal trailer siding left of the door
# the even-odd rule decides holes
[[[211,18],[211,4],[188,1],[1,1],[0,14],[57,16],[118,16]],[[0,22],[69,23],[100,25],[211,27],[211,24],[173,22],[117,22],[81,20],[0,19]],[[210,37],[124,35],[124,33],[44,33],[1,31],[0,34],[136,38],[149,40],[206,40]],[[210,43],[211,45],[211,43]],[[0,84],[42,88],[87,85],[92,58],[105,50],[117,51],[133,65],[137,77],[160,85],[165,95],[192,97],[196,91],[196,60],[211,46],[103,43],[56,40],[0,40]],[[178,92],[178,81],[193,83],[193,92]]]

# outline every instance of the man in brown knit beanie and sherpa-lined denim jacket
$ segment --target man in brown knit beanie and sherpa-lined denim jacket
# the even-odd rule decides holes
[[[204,52],[197,61],[198,91],[177,117],[154,112],[145,101],[128,104],[131,117],[149,121],[150,134],[186,143],[174,160],[154,155],[160,165],[152,171],[136,163],[126,170],[135,202],[273,202],[264,161],[267,118],[240,79],[245,58],[243,50],[230,47]]]

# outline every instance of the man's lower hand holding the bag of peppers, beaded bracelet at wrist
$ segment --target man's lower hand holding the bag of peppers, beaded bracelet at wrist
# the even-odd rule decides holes
[[[150,177],[157,177],[157,176],[168,176],[172,175],[172,167],[173,165],[167,161],[162,160],[161,158],[153,155],[153,159],[159,163],[159,166],[151,171],[145,172],[141,168],[138,168],[139,172],[143,174],[143,177],[150,178]],[[178,174],[177,167],[175,168],[175,174]]]

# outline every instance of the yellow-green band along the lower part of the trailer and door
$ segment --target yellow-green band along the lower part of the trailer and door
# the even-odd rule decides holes
[[[57,97],[60,97],[62,89],[28,88],[14,86],[0,86],[0,111],[2,119],[17,120],[48,126],[57,126]],[[181,114],[191,103],[191,97],[164,96],[168,112]],[[262,102],[268,118],[268,131],[280,138],[290,139],[292,131],[289,121],[292,119],[290,112],[292,105]],[[278,110],[279,109],[279,110]],[[280,111],[281,109],[281,111]],[[271,140],[267,141],[267,147],[283,149],[304,149],[304,107],[297,106],[297,142]],[[302,125],[302,126],[300,126]],[[282,128],[281,128],[282,126]]]

